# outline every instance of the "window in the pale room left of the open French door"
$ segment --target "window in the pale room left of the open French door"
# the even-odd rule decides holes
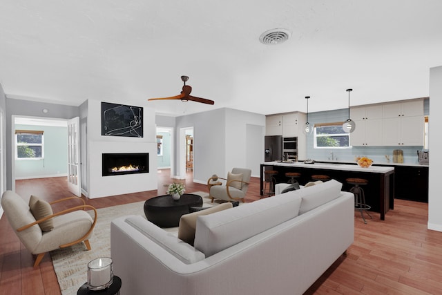
[[[44,158],[43,131],[16,130],[15,158],[18,160],[41,160]]]

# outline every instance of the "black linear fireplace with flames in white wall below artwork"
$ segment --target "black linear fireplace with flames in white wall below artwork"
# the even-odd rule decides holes
[[[104,153],[103,176],[148,173],[148,153]]]

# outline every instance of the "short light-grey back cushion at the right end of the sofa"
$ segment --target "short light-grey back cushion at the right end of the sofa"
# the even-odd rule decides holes
[[[302,198],[299,214],[338,198],[342,187],[342,183],[332,179],[319,185],[304,187],[295,191]]]

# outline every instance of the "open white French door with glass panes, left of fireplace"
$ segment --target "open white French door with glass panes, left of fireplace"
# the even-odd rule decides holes
[[[68,189],[81,197],[79,117],[68,120]]]

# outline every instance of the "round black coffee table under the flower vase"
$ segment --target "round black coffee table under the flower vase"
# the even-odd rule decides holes
[[[184,193],[177,201],[169,195],[151,198],[144,202],[144,214],[159,227],[177,227],[189,207],[202,207],[202,198],[192,193]]]

